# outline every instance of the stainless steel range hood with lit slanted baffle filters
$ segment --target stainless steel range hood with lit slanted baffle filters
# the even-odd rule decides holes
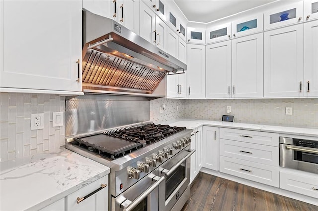
[[[186,70],[184,63],[139,35],[83,10],[84,92],[153,97],[167,72],[181,70]]]

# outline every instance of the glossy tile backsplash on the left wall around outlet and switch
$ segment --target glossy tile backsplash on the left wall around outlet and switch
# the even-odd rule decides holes
[[[51,152],[65,142],[65,127],[52,126],[52,113],[65,111],[65,97],[0,93],[0,161]],[[31,130],[31,114],[44,113],[44,129]]]

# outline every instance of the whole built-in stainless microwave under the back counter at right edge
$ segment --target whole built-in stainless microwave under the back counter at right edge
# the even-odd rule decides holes
[[[318,141],[280,137],[280,166],[318,174]]]

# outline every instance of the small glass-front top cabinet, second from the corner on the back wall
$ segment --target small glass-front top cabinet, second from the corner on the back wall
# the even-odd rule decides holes
[[[210,27],[206,30],[206,43],[218,42],[231,38],[231,23]]]

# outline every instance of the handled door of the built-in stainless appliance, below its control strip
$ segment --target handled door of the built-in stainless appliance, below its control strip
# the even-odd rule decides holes
[[[318,174],[318,149],[280,144],[279,165]]]

